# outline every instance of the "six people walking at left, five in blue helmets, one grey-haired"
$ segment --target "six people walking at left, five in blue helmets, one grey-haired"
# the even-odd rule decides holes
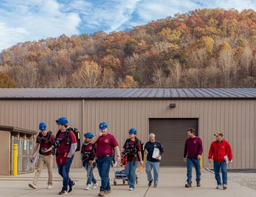
[[[56,163],[58,166],[58,173],[63,178],[63,187],[59,194],[67,194],[74,190],[76,182],[70,179],[69,171],[74,153],[77,150],[77,139],[74,132],[68,125],[68,120],[61,117],[56,120],[58,125],[58,132],[56,136],[52,135],[51,131],[47,131],[47,126],[44,122],[39,124],[40,133],[36,136],[36,145],[31,154],[31,161],[39,148],[38,168],[35,173],[35,178],[29,187],[36,189],[36,184],[40,177],[42,168],[47,165],[49,174],[47,189],[52,188],[52,157],[56,154]],[[94,136],[93,133],[84,134],[84,142],[81,145],[81,160],[83,167],[87,171],[87,181],[84,189],[95,189],[97,179],[95,179],[93,170],[97,166],[100,175],[101,184],[99,196],[105,196],[111,193],[111,186],[109,184],[109,170],[113,163],[113,158],[116,161],[121,161],[120,150],[115,136],[108,133],[108,125],[106,122],[99,124],[100,132]],[[143,164],[143,156],[141,154],[141,141],[137,138],[137,131],[134,128],[129,129],[129,139],[127,139],[123,146],[122,154],[127,156],[127,163],[125,165],[125,175],[129,182],[129,190],[133,191],[135,187],[136,168],[138,164]],[[155,149],[158,150],[158,155],[153,156]],[[80,150],[80,149],[79,149]],[[163,145],[155,140],[155,135],[150,134],[149,141],[145,144],[147,150],[147,165],[146,171],[148,175],[148,186],[151,186],[153,178],[151,170],[154,170],[154,187],[158,184],[159,161],[163,154]],[[123,157],[122,156],[122,157]]]

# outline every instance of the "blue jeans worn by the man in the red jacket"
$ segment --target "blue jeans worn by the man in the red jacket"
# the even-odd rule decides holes
[[[227,185],[228,183],[227,163],[225,161],[221,161],[221,162],[213,161],[213,168],[214,168],[214,174],[215,174],[215,179],[217,181],[217,184],[221,185],[221,179],[220,179],[220,168],[221,168],[222,182],[223,184]]]

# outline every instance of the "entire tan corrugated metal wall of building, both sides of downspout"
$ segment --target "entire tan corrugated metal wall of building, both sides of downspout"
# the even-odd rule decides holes
[[[176,103],[176,108],[169,108],[170,103]],[[146,141],[149,118],[198,118],[205,167],[210,166],[207,154],[213,133],[221,131],[234,152],[230,167],[256,168],[256,101],[253,100],[2,100],[0,110],[1,125],[37,131],[38,123],[44,121],[54,133],[57,129],[54,120],[62,116],[68,117],[70,125],[83,133],[97,133],[99,122],[105,121],[120,147],[131,127],[138,129],[139,138]],[[72,167],[81,167],[78,154]]]

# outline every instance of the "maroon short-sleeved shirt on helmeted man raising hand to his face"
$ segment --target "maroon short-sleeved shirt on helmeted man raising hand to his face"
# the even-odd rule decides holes
[[[115,136],[108,133],[107,135],[100,136],[96,142],[96,145],[97,157],[102,157],[113,156],[113,148],[117,147],[118,143],[116,142]]]

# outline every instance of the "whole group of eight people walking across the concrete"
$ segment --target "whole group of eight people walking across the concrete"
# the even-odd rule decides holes
[[[77,135],[74,129],[68,125],[66,117],[61,117],[56,120],[58,125],[58,132],[56,136],[52,135],[51,131],[47,131],[47,126],[44,122],[39,124],[40,133],[36,136],[36,145],[31,154],[31,161],[39,147],[38,168],[35,173],[35,178],[29,187],[36,189],[36,184],[44,165],[46,164],[48,170],[48,186],[47,189],[52,188],[52,158],[56,155],[56,163],[58,166],[58,173],[63,178],[63,186],[59,194],[67,194],[74,190],[76,182],[70,179],[69,171],[74,153],[80,151],[81,161],[83,167],[87,172],[87,181],[84,189],[95,189],[97,179],[95,179],[93,170],[97,166],[99,176],[101,179],[99,196],[105,196],[111,193],[111,186],[109,184],[109,170],[113,159],[121,161],[126,159],[125,175],[129,182],[129,190],[135,189],[136,182],[136,168],[140,164],[143,165],[143,154],[147,153],[147,163],[145,165],[148,186],[158,187],[159,180],[159,163],[161,156],[164,153],[163,145],[156,140],[156,136],[151,133],[148,136],[148,142],[143,147],[143,143],[137,137],[137,130],[135,128],[129,129],[129,138],[125,141],[121,152],[118,147],[118,142],[114,135],[108,133],[108,125],[106,122],[99,124],[99,133],[84,133],[84,142],[80,147],[77,142]],[[223,139],[222,133],[215,133],[216,141],[212,142],[209,150],[209,162],[214,161],[214,173],[217,181],[217,188],[221,188],[220,169],[223,177],[223,189],[227,189],[227,163],[232,161],[232,151],[230,145]],[[77,145],[78,144],[78,145]],[[187,163],[187,184],[185,187],[192,185],[192,167],[196,170],[196,186],[200,187],[200,157],[202,157],[203,145],[202,140],[195,136],[195,130],[188,129],[188,140],[185,143],[184,162]],[[228,157],[229,160],[225,159]],[[154,171],[154,178],[151,171]],[[153,182],[154,181],[154,182]]]

